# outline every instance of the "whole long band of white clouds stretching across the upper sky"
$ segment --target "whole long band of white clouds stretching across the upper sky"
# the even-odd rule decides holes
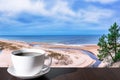
[[[49,1],[49,0],[48,0]],[[26,12],[34,15],[49,16],[55,19],[62,19],[73,22],[99,22],[103,18],[112,17],[114,12],[109,9],[88,6],[74,11],[70,1],[67,0],[0,0],[0,13],[2,17],[16,17],[20,13]],[[113,2],[115,0],[86,0],[99,2]],[[50,5],[51,4],[51,5]],[[50,5],[50,6],[48,6]],[[74,5],[75,6],[75,5]]]

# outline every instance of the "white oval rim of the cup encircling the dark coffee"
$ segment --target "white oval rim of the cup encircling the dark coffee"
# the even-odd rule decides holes
[[[15,55],[17,53],[20,53],[20,52],[35,52],[35,53],[41,53],[40,55],[44,55],[45,54],[45,51],[42,50],[42,49],[19,49],[19,50],[15,50],[13,51],[11,54],[13,56],[16,56],[16,57],[35,57],[35,56],[40,56],[40,55],[33,55],[33,56],[19,56],[19,55]]]

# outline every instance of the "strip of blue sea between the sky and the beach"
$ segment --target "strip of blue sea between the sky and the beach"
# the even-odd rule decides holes
[[[18,40],[25,42],[46,42],[54,44],[97,44],[100,35],[6,35],[1,39]]]

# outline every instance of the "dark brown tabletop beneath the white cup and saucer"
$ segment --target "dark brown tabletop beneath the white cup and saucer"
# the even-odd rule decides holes
[[[0,80],[23,80],[0,68]],[[29,79],[30,80],[30,79]],[[47,74],[31,80],[120,80],[119,68],[51,68]]]

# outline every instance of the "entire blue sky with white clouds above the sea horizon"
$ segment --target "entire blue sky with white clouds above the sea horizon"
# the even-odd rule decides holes
[[[120,0],[0,0],[0,35],[97,35],[120,25]]]

